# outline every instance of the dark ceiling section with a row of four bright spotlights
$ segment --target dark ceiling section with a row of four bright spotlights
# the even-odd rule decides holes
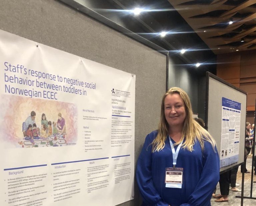
[[[67,1],[63,1],[67,3]],[[216,55],[202,41],[198,34],[182,18],[168,0],[75,0],[75,2],[97,12],[112,22],[159,45],[169,51],[172,65],[194,70],[200,62],[204,66],[194,71],[205,75],[216,72]],[[148,9],[135,16],[131,10],[136,7]],[[169,32],[161,38],[161,31]],[[182,49],[187,52],[181,54]]]

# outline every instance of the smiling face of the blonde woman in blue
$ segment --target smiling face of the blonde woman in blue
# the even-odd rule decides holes
[[[186,110],[179,94],[168,94],[164,100],[164,114],[169,126],[183,126]]]

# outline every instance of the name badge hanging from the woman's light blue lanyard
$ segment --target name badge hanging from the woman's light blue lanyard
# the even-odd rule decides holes
[[[165,187],[182,188],[183,168],[165,168]]]

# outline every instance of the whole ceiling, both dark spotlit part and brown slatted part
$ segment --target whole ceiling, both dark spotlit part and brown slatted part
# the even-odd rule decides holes
[[[256,49],[256,0],[75,0],[187,64]],[[135,16],[131,10],[147,9]],[[130,12],[128,12],[130,11]],[[229,24],[232,20],[233,24]],[[168,31],[164,38],[159,32]],[[243,40],[243,41],[242,41]]]

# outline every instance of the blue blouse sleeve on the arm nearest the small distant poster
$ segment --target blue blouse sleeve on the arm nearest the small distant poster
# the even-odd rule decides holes
[[[204,142],[203,171],[200,180],[194,192],[189,196],[188,203],[180,206],[209,205],[212,193],[220,178],[220,160],[216,147],[215,151],[209,142]]]

